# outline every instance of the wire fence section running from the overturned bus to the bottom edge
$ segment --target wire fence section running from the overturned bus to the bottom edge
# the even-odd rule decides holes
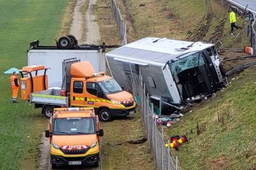
[[[154,119],[156,114],[153,104],[148,100],[148,93],[145,84],[143,84],[142,76],[140,76],[139,97],[139,109],[157,169],[181,169],[178,157],[175,156],[172,148],[170,149],[170,140],[165,138],[163,127],[156,124]],[[165,144],[168,144],[168,147]]]

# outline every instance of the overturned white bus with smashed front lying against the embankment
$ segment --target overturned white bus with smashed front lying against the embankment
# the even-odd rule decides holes
[[[106,59],[125,89],[136,95],[141,74],[150,98],[176,109],[228,84],[220,57],[209,43],[147,37],[108,52]]]

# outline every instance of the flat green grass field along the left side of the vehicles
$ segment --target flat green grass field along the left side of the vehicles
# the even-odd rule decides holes
[[[47,119],[26,101],[12,104],[8,68],[27,65],[29,42],[54,45],[67,0],[0,1],[0,169],[35,169]]]

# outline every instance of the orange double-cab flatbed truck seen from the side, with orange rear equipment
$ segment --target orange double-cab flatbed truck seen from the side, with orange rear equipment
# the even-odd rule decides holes
[[[44,75],[38,75],[39,70]],[[110,121],[113,116],[127,116],[135,111],[136,103],[131,93],[124,91],[113,77],[104,72],[95,73],[88,61],[63,61],[61,89],[45,89],[46,70],[42,66],[34,66],[33,69],[24,67],[20,72],[20,81],[21,98],[35,104],[35,108],[42,107],[42,113],[48,118],[52,116],[53,109],[58,107],[93,107],[101,121]],[[38,79],[38,76],[43,78]],[[35,87],[39,86],[41,90],[36,88],[35,91]]]

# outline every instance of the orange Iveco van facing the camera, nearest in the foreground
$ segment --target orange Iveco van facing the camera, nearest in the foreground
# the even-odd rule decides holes
[[[51,165],[93,165],[100,161],[99,118],[93,107],[54,109],[45,137],[51,144]]]

